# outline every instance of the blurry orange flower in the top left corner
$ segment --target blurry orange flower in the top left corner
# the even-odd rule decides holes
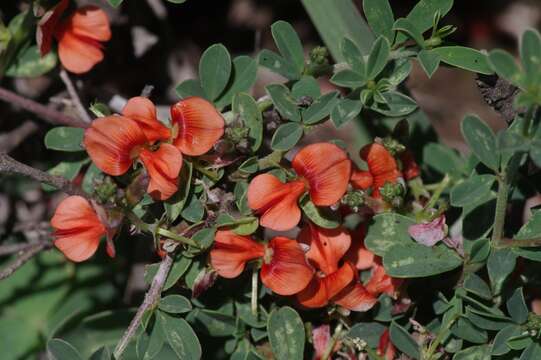
[[[101,42],[111,39],[109,18],[100,8],[85,6],[77,9],[56,27],[63,6],[59,4],[56,8],[58,11],[53,11],[49,21],[41,26],[41,52],[44,54],[50,49],[50,40],[46,39],[50,39],[50,33],[54,30],[60,62],[68,71],[82,74],[103,60]]]

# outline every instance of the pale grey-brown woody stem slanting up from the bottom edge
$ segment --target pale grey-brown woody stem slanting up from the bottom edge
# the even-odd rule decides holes
[[[122,335],[122,338],[115,347],[115,351],[113,352],[115,359],[120,359],[121,355],[126,350],[126,347],[137,332],[139,325],[141,325],[141,320],[143,320],[145,312],[156,306],[157,302],[160,299],[165,280],[167,279],[167,275],[171,270],[171,266],[173,266],[173,257],[170,254],[167,254],[163,258],[162,262],[160,263],[160,267],[156,272],[156,275],[152,279],[150,288],[145,294],[145,300],[137,309],[135,316],[130,322],[130,325],[128,326],[128,328],[124,332],[124,335]]]

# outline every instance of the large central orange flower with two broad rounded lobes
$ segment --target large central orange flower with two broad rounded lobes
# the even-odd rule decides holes
[[[248,206],[262,214],[260,224],[283,231],[295,227],[301,218],[299,197],[308,191],[317,206],[329,206],[347,190],[351,161],[347,154],[331,143],[304,147],[293,158],[292,166],[299,178],[282,183],[270,174],[256,176],[247,192]]]

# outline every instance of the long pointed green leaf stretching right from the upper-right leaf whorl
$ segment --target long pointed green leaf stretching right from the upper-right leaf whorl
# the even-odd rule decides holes
[[[457,68],[490,75],[493,73],[488,58],[479,50],[463,46],[442,46],[431,50],[440,60]]]

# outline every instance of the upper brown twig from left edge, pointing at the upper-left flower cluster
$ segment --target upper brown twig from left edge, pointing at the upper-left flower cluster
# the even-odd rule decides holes
[[[17,105],[26,111],[36,114],[39,118],[47,121],[50,124],[82,128],[89,126],[89,124],[82,120],[67,116],[59,111],[56,111],[55,109],[42,105],[34,100],[22,97],[2,87],[0,87],[0,100],[12,105]]]

